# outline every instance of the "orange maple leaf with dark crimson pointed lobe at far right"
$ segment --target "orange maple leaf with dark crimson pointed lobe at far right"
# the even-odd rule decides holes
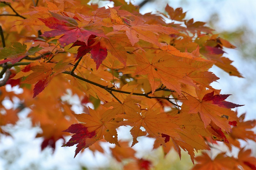
[[[196,97],[188,96],[188,100],[185,100],[183,103],[189,106],[188,113],[199,113],[205,128],[213,121],[221,129],[230,132],[231,127],[228,121],[237,120],[237,116],[231,108],[242,105],[225,101],[230,94],[214,95],[213,91],[210,92],[211,90],[206,90],[202,87],[200,92],[199,90],[196,91]]]

